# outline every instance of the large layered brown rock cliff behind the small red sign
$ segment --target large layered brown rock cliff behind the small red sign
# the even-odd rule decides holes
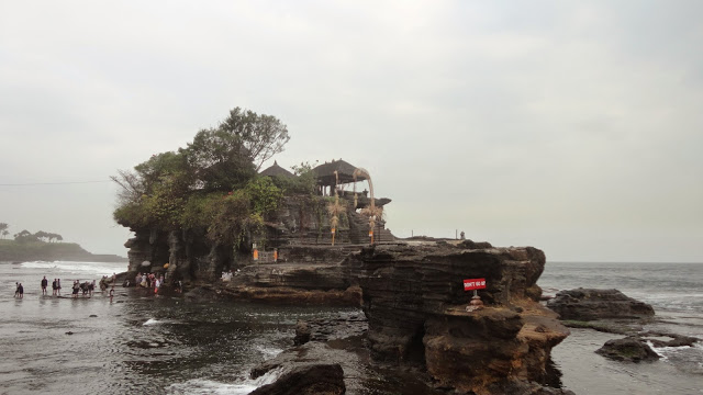
[[[544,253],[462,247],[470,246],[378,246],[348,258],[360,268],[372,354],[423,366],[440,386],[462,392],[543,382],[551,348],[569,334],[536,302]],[[467,313],[472,292],[462,280],[473,278],[486,278],[486,308]]]

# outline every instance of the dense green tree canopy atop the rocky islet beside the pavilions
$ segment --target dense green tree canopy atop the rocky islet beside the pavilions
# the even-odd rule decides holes
[[[257,170],[289,139],[275,116],[235,108],[185,148],[118,170],[113,216],[133,228],[204,229],[212,241],[236,245],[277,208],[281,189]]]

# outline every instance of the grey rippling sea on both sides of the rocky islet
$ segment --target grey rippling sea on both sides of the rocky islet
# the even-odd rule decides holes
[[[99,290],[70,297],[74,280],[124,270],[125,263],[0,262],[0,394],[248,394],[276,380],[276,371],[256,380],[249,371],[292,346],[299,319],[358,311],[191,301],[121,286],[112,300]],[[62,297],[52,295],[56,278]],[[23,298],[14,297],[16,282]],[[654,306],[657,319],[646,329],[703,339],[703,263],[548,262],[538,284],[546,294],[618,289]],[[571,329],[553,350],[562,386],[576,394],[703,394],[703,345],[655,349],[662,358],[647,363],[594,352],[620,337]],[[415,394],[372,365],[358,371],[347,394]]]

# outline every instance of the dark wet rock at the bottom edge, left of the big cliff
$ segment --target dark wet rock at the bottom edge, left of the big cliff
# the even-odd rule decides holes
[[[346,393],[344,371],[338,363],[298,366],[250,395],[337,395]]]

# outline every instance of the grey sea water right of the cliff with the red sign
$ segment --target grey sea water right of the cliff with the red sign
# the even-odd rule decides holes
[[[703,263],[548,262],[537,282],[545,294],[577,287],[617,289],[649,303],[656,321],[645,330],[703,339]],[[623,336],[571,329],[553,350],[563,386],[577,394],[703,394],[703,343],[655,348],[655,362],[607,360],[594,351]]]

